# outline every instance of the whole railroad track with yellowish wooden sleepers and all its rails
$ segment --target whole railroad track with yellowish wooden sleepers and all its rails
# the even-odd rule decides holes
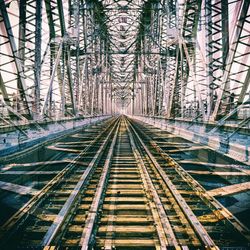
[[[8,221],[8,237],[2,228],[0,245],[17,249],[247,246],[247,234],[241,231],[246,229],[234,218],[222,216],[223,207],[200,195],[200,187],[190,184],[185,171],[125,117],[114,121],[84,152],[77,161],[85,165],[66,168],[69,174],[36,197],[28,215]]]

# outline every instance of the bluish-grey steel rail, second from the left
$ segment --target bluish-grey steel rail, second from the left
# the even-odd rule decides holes
[[[111,131],[107,135],[106,139],[104,140],[104,142],[102,143],[102,145],[100,146],[98,151],[96,152],[95,156],[93,157],[93,159],[89,163],[87,169],[84,171],[84,173],[80,177],[80,180],[78,181],[78,183],[76,184],[71,195],[68,197],[67,201],[65,202],[65,204],[61,208],[60,212],[56,216],[53,224],[49,227],[47,233],[45,234],[45,236],[43,237],[43,239],[41,241],[42,246],[46,247],[52,243],[53,239],[55,238],[56,234],[58,233],[59,229],[61,228],[63,222],[65,221],[66,216],[69,215],[69,212],[72,208],[73,203],[75,202],[75,200],[78,197],[83,186],[86,184],[87,180],[91,176],[91,173],[93,173],[95,166],[98,164],[98,162],[99,162],[99,160],[104,152],[104,149],[108,145],[108,142],[111,138],[111,135],[112,135],[114,129],[116,128],[116,126],[118,126],[117,123],[118,123],[118,121],[115,123],[114,127],[111,129]],[[91,211],[92,211],[92,209],[91,209]]]

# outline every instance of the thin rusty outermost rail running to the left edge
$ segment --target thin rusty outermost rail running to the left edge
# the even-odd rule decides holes
[[[113,121],[114,122],[114,121]],[[112,123],[113,123],[112,122]],[[111,123],[111,124],[112,124]],[[66,174],[70,173],[74,169],[75,162],[85,155],[89,148],[91,148],[92,145],[94,145],[101,137],[102,135],[110,129],[110,126],[105,128],[105,130],[98,135],[80,154],[78,154],[72,161],[67,164],[51,181],[49,181],[38,193],[37,195],[33,196],[27,203],[24,204],[23,207],[21,207],[13,216],[11,216],[1,227],[0,227],[0,246],[4,245],[6,240],[12,235],[12,231],[15,231],[17,227],[14,228],[15,225],[19,223],[23,223],[28,214],[32,213],[32,211],[36,208],[36,206],[43,201],[44,198],[46,198],[46,194],[56,186],[60,180],[65,176]]]

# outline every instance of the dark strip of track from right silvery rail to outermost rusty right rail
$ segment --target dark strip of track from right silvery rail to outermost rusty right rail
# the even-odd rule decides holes
[[[133,123],[132,127],[135,133],[138,134],[138,137],[142,138],[141,141],[144,147],[155,158],[155,166],[165,182],[169,180],[169,184],[172,184],[174,187],[170,189],[172,191],[176,190],[177,193],[181,194],[187,207],[191,208],[214,242],[220,247],[248,247],[250,243],[249,229],[214,197],[209,196],[208,192],[198,181],[166,153],[167,150],[164,150],[162,144],[159,144],[154,139],[155,134],[154,132],[152,133],[150,128],[139,123]],[[164,142],[165,138],[163,135],[159,138],[160,142]],[[188,216],[187,218],[191,217]]]

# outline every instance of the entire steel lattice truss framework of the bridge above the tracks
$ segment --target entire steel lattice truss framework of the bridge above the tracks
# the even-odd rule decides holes
[[[248,0],[0,0],[1,120],[249,121]]]

